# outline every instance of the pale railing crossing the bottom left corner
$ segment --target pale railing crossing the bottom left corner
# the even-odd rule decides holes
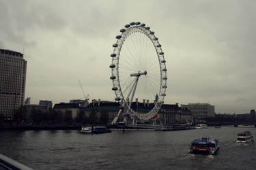
[[[26,165],[18,163],[16,160],[13,160],[12,158],[4,156],[3,154],[0,154],[0,167],[3,167],[4,169],[33,170],[27,167]]]

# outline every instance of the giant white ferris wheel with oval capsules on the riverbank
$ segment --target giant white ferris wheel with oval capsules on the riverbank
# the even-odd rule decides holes
[[[158,110],[164,102],[167,88],[166,61],[158,37],[145,24],[130,22],[115,38],[117,41],[113,44],[113,54],[110,55],[112,63],[109,67],[115,101],[121,105],[117,117],[123,114],[139,120],[158,118]],[[150,109],[138,112],[132,109],[133,101],[143,101]]]

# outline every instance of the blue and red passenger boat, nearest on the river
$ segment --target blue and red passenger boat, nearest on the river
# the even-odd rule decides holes
[[[216,154],[218,150],[218,140],[210,137],[202,137],[191,142],[190,154],[205,153]]]

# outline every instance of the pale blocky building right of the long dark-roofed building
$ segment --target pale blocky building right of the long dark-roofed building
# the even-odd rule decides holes
[[[181,105],[182,108],[188,108],[192,112],[192,118],[205,119],[215,117],[214,105],[209,103],[189,103],[188,105]]]

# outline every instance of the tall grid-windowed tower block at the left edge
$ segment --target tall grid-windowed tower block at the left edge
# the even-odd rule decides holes
[[[0,115],[12,118],[24,104],[27,61],[23,54],[0,49]]]

